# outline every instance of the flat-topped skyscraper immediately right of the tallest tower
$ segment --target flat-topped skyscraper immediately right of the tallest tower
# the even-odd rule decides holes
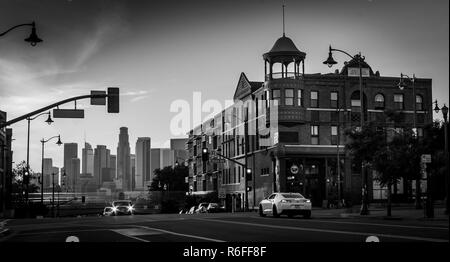
[[[151,181],[151,139],[150,137],[139,137],[136,141],[136,177],[135,188],[145,188],[145,182]]]

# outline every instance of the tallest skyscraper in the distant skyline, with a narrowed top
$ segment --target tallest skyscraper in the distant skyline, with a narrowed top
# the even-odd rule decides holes
[[[119,133],[119,144],[117,146],[117,178],[122,180],[122,190],[131,190],[130,143],[128,140],[127,127],[121,127]]]

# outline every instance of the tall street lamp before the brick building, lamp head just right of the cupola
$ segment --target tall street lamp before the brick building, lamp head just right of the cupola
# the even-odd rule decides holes
[[[363,129],[364,126],[364,96],[363,96],[363,90],[362,90],[362,63],[365,60],[364,56],[361,56],[361,53],[356,54],[355,56],[350,55],[349,53],[340,50],[340,49],[334,49],[329,48],[329,52],[328,52],[328,58],[327,60],[325,60],[323,63],[325,65],[328,65],[328,67],[332,67],[333,65],[337,64],[337,62],[333,59],[333,51],[337,51],[337,52],[341,52],[343,54],[346,54],[347,56],[349,56],[350,58],[352,58],[353,60],[358,62],[358,68],[359,68],[359,100],[360,100],[360,124],[361,124],[361,131]],[[366,173],[364,172],[364,162],[361,163],[361,175],[362,175],[362,180],[363,180],[363,187],[362,187],[362,201],[361,201],[361,215],[368,215],[369,214],[369,208],[367,206],[368,204],[368,192],[367,192],[367,177],[366,177]]]

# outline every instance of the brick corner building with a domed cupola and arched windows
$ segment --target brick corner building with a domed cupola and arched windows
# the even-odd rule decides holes
[[[360,125],[358,63],[348,61],[335,73],[305,74],[305,57],[283,35],[263,55],[264,82],[249,81],[242,73],[234,105],[189,132],[191,194],[217,192],[228,210],[243,208],[244,168],[231,161],[202,162],[201,148],[207,147],[211,159],[219,152],[252,168],[250,208],[274,191],[300,192],[316,206],[337,200],[338,189],[341,199],[361,201],[361,169],[345,152],[344,135]],[[399,77],[380,76],[366,62],[362,74],[364,120],[389,133],[412,128],[416,116],[422,136],[423,127],[432,122],[431,79],[416,79],[413,97],[411,85],[400,89]],[[387,120],[386,111],[397,113],[395,121]],[[382,199],[385,189],[367,172],[370,201]],[[395,193],[407,197],[410,188],[403,181]]]

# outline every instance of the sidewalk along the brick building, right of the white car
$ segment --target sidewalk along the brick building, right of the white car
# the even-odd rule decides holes
[[[387,217],[387,209],[382,206],[369,207],[369,215],[360,215],[360,206],[352,208],[313,208],[312,216],[316,218],[368,218],[384,220],[418,220],[418,221],[448,221],[444,207],[434,208],[434,218],[426,218],[423,209],[413,206],[392,207],[391,217]]]

